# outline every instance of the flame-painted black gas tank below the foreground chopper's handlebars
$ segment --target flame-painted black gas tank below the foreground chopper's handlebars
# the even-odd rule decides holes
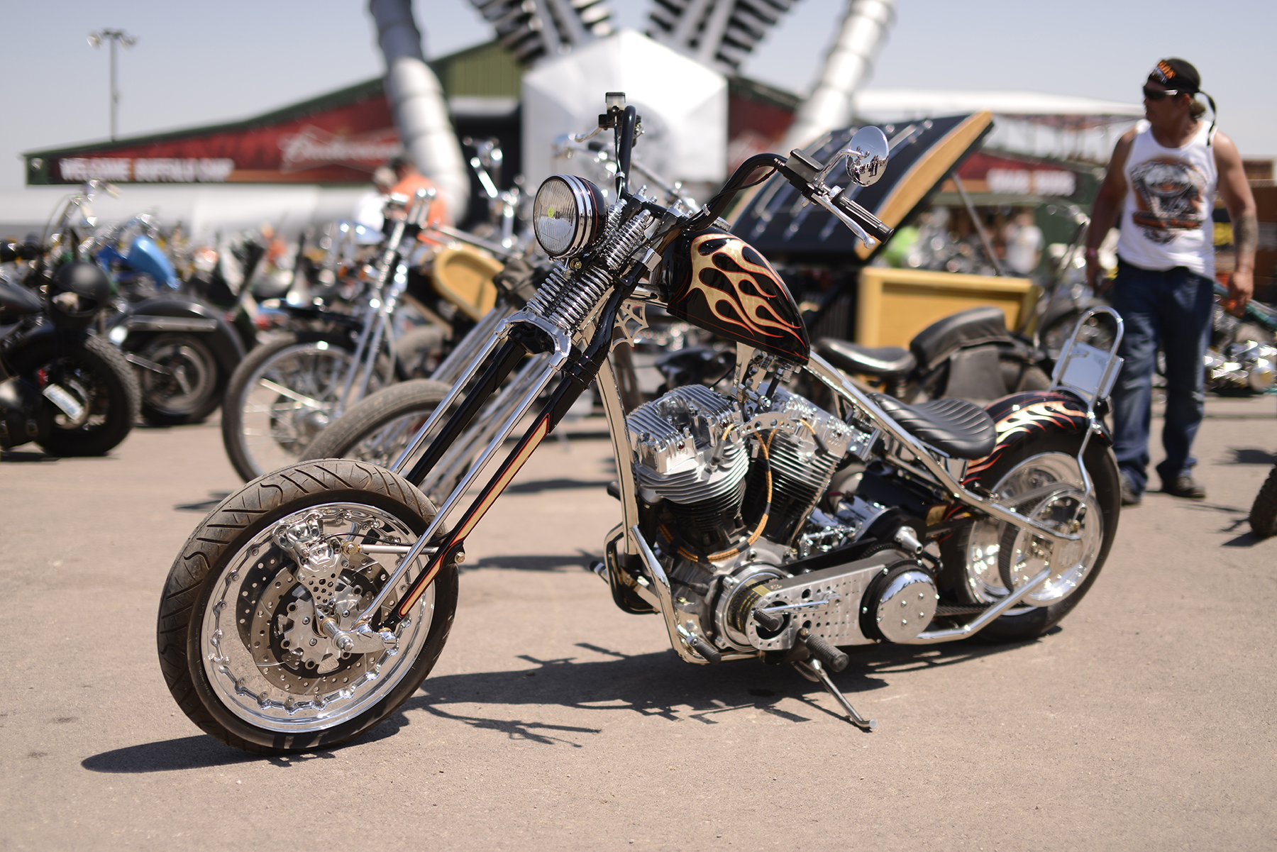
[[[753,247],[719,227],[683,234],[661,258],[665,309],[674,317],[806,364],[811,341],[798,304]]]

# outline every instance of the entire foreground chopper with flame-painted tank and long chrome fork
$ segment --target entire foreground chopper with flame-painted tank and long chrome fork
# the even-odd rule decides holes
[[[1034,637],[1094,584],[1120,511],[1094,406],[1120,359],[1070,341],[1051,390],[988,409],[868,392],[811,351],[784,282],[719,216],[766,170],[866,243],[886,239],[850,198],[886,165],[881,130],[862,129],[825,165],[801,151],[751,157],[690,211],[632,192],[637,125],[609,93],[598,132],[614,134],[610,207],[575,176],[538,189],[550,275],[396,464],[298,462],[194,530],[165,585],[157,641],[170,691],[203,731],[286,752],[347,741],[393,713],[443,650],[467,536],[591,382],[623,519],[595,571],[623,611],[655,613],[687,663],[789,663],[870,728],[829,677],[848,663],[839,646]],[[647,304],[733,340],[736,368],[714,388],[670,388],[626,413],[609,353]],[[545,356],[535,381],[435,510],[415,483],[527,353]],[[816,386],[827,407],[802,392]],[[831,493],[853,461],[866,465],[854,493]]]

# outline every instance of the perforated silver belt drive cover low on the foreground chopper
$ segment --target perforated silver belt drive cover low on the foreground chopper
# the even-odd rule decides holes
[[[750,608],[769,609],[789,618],[770,639],[760,636],[757,622],[748,618],[746,636],[750,644],[760,650],[793,648],[805,626],[834,645],[872,644],[873,640],[861,632],[861,599],[877,574],[904,559],[911,557],[900,551],[882,551],[848,565],[759,584],[753,589],[759,598]]]

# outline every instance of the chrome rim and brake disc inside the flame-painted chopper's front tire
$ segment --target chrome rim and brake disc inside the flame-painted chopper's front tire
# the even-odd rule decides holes
[[[221,704],[249,724],[277,732],[323,731],[366,713],[407,676],[434,617],[434,586],[427,588],[396,627],[398,648],[344,654],[318,630],[314,613],[342,630],[361,614],[395,568],[395,556],[347,554],[328,600],[317,600],[298,579],[298,563],[281,549],[281,529],[308,526],[314,540],[412,544],[416,535],[389,512],[361,503],[327,503],[271,524],[227,562],[216,579],[200,622],[204,674]],[[424,567],[419,561],[383,613]]]

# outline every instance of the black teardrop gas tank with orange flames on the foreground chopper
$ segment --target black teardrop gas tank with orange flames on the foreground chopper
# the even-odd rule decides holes
[[[692,238],[691,271],[678,294],[679,308],[699,324],[752,346],[806,361],[810,344],[792,296],[771,264],[744,240],[723,231]],[[705,298],[705,308],[692,294]]]

